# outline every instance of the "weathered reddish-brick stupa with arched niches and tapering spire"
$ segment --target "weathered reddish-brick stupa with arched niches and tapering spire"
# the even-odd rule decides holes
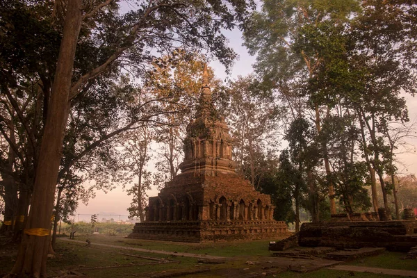
[[[270,195],[236,174],[232,140],[224,120],[213,117],[208,73],[195,120],[187,127],[181,174],[149,197],[146,220],[129,238],[203,242],[275,238],[288,233],[272,218]]]

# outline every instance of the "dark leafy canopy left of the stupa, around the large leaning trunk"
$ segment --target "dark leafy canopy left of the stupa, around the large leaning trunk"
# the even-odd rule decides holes
[[[14,148],[16,184],[29,195],[44,121],[54,117],[48,110],[51,95],[56,93],[51,85],[65,22],[64,3],[0,3],[1,141],[6,138]],[[159,123],[158,115],[178,108],[164,110],[161,105],[177,101],[170,99],[172,95],[161,100],[152,91],[140,90],[153,70],[150,65],[160,56],[175,56],[182,48],[190,53],[206,51],[229,67],[236,54],[227,47],[222,30],[243,27],[254,8],[252,0],[142,0],[134,5],[135,9],[122,13],[120,1],[88,1],[82,11],[85,17],[74,70],[67,76],[72,80],[70,115],[57,181],[57,200],[65,197],[56,204],[56,213],[64,211],[64,218],[93,189],[109,190],[125,181],[119,171],[115,136],[138,129],[143,122]],[[126,72],[137,84],[126,81]],[[144,101],[145,94],[152,98]],[[16,138],[8,136],[10,122],[16,122]],[[92,188],[82,188],[86,180],[95,181]]]

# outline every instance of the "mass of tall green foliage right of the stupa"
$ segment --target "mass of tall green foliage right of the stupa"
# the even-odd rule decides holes
[[[364,186],[374,170],[388,206],[384,174],[395,172],[390,124],[408,121],[400,91],[416,90],[416,63],[410,63],[416,60],[415,8],[396,0],[265,0],[244,33],[250,53],[258,54],[259,78],[287,106],[287,134],[298,142],[287,136],[291,156],[308,157],[304,163],[316,170],[310,177],[334,183],[349,212],[368,209]],[[293,132],[307,130],[291,124],[305,115],[317,136]],[[304,137],[312,140],[309,152],[300,152]],[[315,161],[320,157],[325,175]]]

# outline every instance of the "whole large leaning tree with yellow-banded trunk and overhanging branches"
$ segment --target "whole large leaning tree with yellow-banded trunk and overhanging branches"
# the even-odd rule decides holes
[[[47,100],[45,102],[47,113],[44,113],[44,129],[38,163],[36,163],[31,212],[26,221],[25,235],[13,273],[33,277],[46,276],[49,247],[47,231],[50,228],[64,131],[71,102],[83,97],[83,93],[86,92],[83,89],[95,84],[99,76],[111,74],[113,70],[122,67],[126,59],[136,66],[133,69],[143,72],[143,67],[146,67],[145,62],[152,58],[150,49],[169,51],[174,48],[174,44],[182,44],[193,49],[207,49],[224,64],[230,63],[234,58],[234,52],[225,47],[225,38],[220,31],[222,28],[234,28],[237,23],[242,23],[247,15],[247,8],[252,2],[245,0],[214,3],[186,2],[139,1],[138,10],[121,16],[117,15],[116,1],[111,0],[89,2],[87,6],[82,6],[81,0],[68,1],[67,6],[63,6],[61,1],[56,1],[55,6],[50,6],[49,1],[40,2],[38,5],[24,1],[6,3],[6,8],[9,10],[14,10],[17,6],[23,6],[26,10],[42,10],[47,14],[42,19],[47,18],[56,24],[49,25],[51,27],[57,26],[60,29],[60,22],[64,22],[61,47],[56,51],[58,58],[52,59],[51,63],[52,65],[56,63],[56,70],[51,68],[44,70],[48,73],[46,81],[53,85],[44,94]],[[35,15],[40,13],[33,13],[31,17]],[[105,19],[101,21],[102,24],[95,24],[101,19]],[[85,24],[82,24],[83,22]],[[2,34],[9,35],[16,32],[7,24],[2,26],[8,28]],[[51,27],[49,28],[53,30],[54,28]],[[151,33],[152,35],[147,35]],[[79,40],[79,34],[83,40]],[[88,42],[90,45],[83,42]],[[44,42],[40,44],[42,43]],[[77,53],[84,54],[77,56],[77,62],[83,63],[85,67],[82,70],[81,67],[77,67],[73,71],[77,43],[79,43]],[[85,49],[99,49],[100,51],[97,51],[99,57],[85,56],[88,52],[82,51],[85,49],[80,47],[81,45]],[[10,58],[15,57],[10,56]],[[123,59],[120,59],[122,57]],[[13,61],[7,62],[11,65]],[[15,68],[19,70],[19,66]],[[8,89],[8,86],[15,82],[17,74],[13,70],[11,72],[4,70],[4,67],[2,73],[6,74],[7,80],[2,83],[1,88]],[[44,86],[47,86],[46,83]]]

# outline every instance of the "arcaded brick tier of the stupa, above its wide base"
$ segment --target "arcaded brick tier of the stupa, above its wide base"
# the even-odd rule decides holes
[[[236,174],[195,177],[188,173],[175,177],[173,181],[167,183],[157,197],[149,198],[148,211],[150,213],[147,220],[173,220],[172,216],[165,217],[165,214],[169,215],[169,210],[182,211],[183,209],[193,209],[195,212],[191,213],[193,216],[185,219],[178,216],[175,220],[217,219],[218,215],[213,216],[213,214],[218,213],[219,207],[222,206],[220,204],[222,197],[226,199],[227,206],[229,206],[228,219],[272,219],[274,207],[271,205],[270,196],[254,190],[249,181],[241,179]],[[210,205],[215,208],[210,208]],[[159,210],[161,207],[161,211],[154,212],[155,209]],[[215,212],[210,212],[210,210],[215,210]],[[158,217],[155,218],[155,215]]]

